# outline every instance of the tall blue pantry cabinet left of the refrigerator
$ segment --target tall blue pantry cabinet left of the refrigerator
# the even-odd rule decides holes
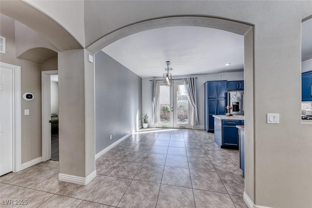
[[[214,132],[213,115],[224,115],[227,106],[227,81],[208,81],[204,84],[205,130]]]

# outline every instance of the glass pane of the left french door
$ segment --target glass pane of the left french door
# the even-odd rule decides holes
[[[170,123],[170,87],[159,86],[159,122]]]

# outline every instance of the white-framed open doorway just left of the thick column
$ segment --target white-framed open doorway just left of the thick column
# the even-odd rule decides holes
[[[42,161],[59,161],[58,70],[41,72]]]

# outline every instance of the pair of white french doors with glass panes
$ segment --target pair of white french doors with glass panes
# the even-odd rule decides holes
[[[173,86],[158,84],[157,127],[191,129],[191,106],[182,80],[173,82]]]

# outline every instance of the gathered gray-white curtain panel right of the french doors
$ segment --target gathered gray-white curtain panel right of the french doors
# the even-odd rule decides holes
[[[188,77],[183,79],[183,84],[186,86],[187,98],[193,108],[192,110],[192,126],[198,126],[198,113],[197,113],[197,99],[196,99],[196,78]]]

